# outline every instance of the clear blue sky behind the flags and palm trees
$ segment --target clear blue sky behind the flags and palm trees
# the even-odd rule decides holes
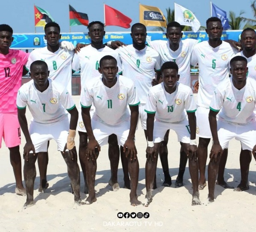
[[[253,12],[250,8],[252,0],[213,0],[212,3],[219,8],[227,11],[234,11],[236,15],[242,10],[245,13],[243,17],[253,18]],[[68,4],[73,6],[76,11],[87,13],[89,21],[99,20],[104,22],[103,3],[118,9],[123,14],[130,17],[133,23],[139,22],[139,3],[148,6],[159,7],[164,14],[166,8],[174,8],[174,1],[167,0],[7,0],[1,3],[0,23],[6,23],[12,26],[15,33],[33,33],[34,24],[34,4],[39,6],[52,15],[55,22],[61,26],[62,32],[69,32],[69,8]],[[176,0],[175,3],[191,10],[200,21],[205,25],[210,17],[210,1],[208,0]],[[149,27],[148,31],[152,28]],[[116,26],[107,26],[106,31],[129,31]],[[72,32],[87,32],[85,26],[73,26]],[[43,32],[42,28],[37,28],[37,32]]]

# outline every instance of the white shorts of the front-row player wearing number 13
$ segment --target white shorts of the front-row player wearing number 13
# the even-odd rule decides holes
[[[166,131],[169,129],[176,132],[179,142],[190,143],[189,121],[187,119],[177,123],[154,121],[154,143],[163,141]]]

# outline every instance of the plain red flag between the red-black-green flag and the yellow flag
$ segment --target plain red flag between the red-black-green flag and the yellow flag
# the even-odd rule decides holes
[[[119,26],[123,28],[130,28],[131,19],[120,11],[104,4],[104,17],[106,26]]]

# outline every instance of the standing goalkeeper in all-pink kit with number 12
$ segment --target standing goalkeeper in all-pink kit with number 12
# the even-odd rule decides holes
[[[9,49],[13,37],[9,25],[0,25],[0,147],[2,138],[10,151],[18,195],[26,195],[22,184],[20,158],[20,124],[17,117],[16,97],[21,85],[23,66],[29,54]]]

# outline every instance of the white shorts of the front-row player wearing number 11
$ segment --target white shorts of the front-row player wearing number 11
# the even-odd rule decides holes
[[[97,120],[91,119],[93,135],[99,145],[108,144],[108,136],[115,134],[117,136],[118,145],[123,146],[128,138],[130,131],[130,122],[122,122],[118,125],[107,125]]]

